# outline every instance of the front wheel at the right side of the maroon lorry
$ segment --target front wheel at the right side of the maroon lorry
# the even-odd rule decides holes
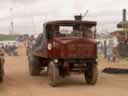
[[[87,70],[84,73],[85,80],[87,84],[96,84],[98,77],[98,69],[96,64],[87,64]]]

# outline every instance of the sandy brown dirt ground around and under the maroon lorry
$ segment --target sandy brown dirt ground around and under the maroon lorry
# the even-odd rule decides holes
[[[0,84],[0,96],[128,96],[128,74],[112,75],[102,73],[105,67],[128,68],[127,60],[116,63],[105,62],[100,57],[99,78],[95,86],[88,86],[83,75],[71,76],[62,85],[52,88],[48,85],[47,74],[31,77],[25,49],[20,46],[17,57],[6,57],[5,79]]]

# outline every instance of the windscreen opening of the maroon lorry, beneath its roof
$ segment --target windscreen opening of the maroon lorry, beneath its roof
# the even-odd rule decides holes
[[[57,26],[55,37],[94,37],[95,27],[87,26]]]

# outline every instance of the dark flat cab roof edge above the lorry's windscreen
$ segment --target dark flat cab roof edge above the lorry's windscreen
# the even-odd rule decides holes
[[[81,21],[81,20],[57,20],[57,21],[50,21],[44,23],[45,25],[87,25],[87,26],[95,26],[97,23],[95,21]]]

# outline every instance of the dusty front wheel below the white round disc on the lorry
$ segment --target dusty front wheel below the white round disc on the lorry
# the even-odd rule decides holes
[[[54,62],[48,65],[48,82],[52,87],[57,86],[59,80],[59,68]]]

